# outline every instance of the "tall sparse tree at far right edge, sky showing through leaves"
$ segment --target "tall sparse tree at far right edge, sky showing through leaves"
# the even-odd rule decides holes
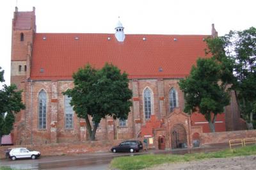
[[[230,31],[225,40],[226,51],[234,60],[239,109],[250,129],[256,117],[256,28]]]

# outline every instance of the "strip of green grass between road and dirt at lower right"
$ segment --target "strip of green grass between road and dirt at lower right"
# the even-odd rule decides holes
[[[186,155],[138,155],[129,157],[117,157],[111,161],[113,169],[143,169],[164,163],[186,162],[191,160],[202,160],[205,158],[227,158],[245,155],[256,155],[256,145],[236,148],[233,150],[227,149],[223,151],[215,151],[210,153],[188,153]]]

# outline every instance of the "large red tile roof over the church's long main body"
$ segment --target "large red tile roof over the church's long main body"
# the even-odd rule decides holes
[[[71,80],[86,63],[101,68],[106,62],[127,72],[129,79],[182,78],[198,57],[205,57],[206,37],[125,35],[124,42],[117,42],[113,34],[36,33],[31,79]]]

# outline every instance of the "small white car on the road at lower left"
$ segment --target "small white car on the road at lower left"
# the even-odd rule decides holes
[[[9,158],[16,160],[17,158],[38,158],[40,157],[40,151],[29,151],[27,148],[12,148],[9,152]]]

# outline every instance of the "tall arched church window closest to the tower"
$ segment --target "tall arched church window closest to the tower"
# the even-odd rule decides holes
[[[46,92],[41,90],[38,96],[38,121],[40,129],[46,128],[46,109],[47,109],[47,97]]]

